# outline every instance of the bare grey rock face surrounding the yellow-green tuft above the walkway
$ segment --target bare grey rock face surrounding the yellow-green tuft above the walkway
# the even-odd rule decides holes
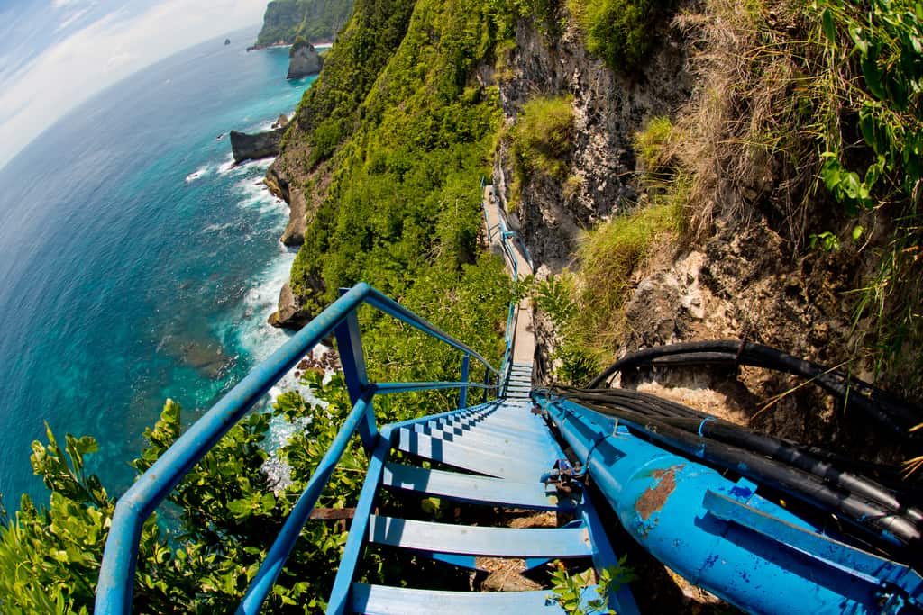
[[[633,133],[649,118],[675,112],[689,99],[694,84],[674,32],[665,35],[642,74],[632,78],[609,70],[587,52],[582,38],[572,28],[560,36],[545,36],[521,20],[505,74],[496,77],[508,124],[536,96],[573,99],[569,178],[563,184],[537,175],[526,178],[521,184],[523,206],[517,212],[533,258],[556,273],[572,258],[581,229],[634,203],[637,195],[629,183],[635,167]],[[511,154],[509,143],[502,142],[493,177],[501,205],[508,210]]]

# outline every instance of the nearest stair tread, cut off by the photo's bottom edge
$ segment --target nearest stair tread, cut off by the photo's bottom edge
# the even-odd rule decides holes
[[[588,588],[591,589],[591,588]],[[563,613],[546,589],[525,592],[450,592],[354,583],[350,609],[370,615],[413,613]]]

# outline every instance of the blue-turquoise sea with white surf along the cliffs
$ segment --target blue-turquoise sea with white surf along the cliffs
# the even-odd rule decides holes
[[[0,493],[47,503],[43,421],[96,437],[111,494],[163,401],[192,420],[285,340],[266,325],[294,254],[288,210],[234,167],[231,129],[291,114],[287,49],[257,29],[199,44],[105,90],[0,171]],[[54,84],[49,84],[54,88]]]

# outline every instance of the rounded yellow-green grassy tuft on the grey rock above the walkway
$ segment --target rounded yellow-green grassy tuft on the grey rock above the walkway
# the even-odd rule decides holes
[[[534,98],[525,103],[512,130],[518,171],[564,180],[573,150],[573,99]]]

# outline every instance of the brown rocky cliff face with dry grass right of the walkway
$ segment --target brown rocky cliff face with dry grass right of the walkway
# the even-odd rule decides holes
[[[593,321],[605,334],[591,339],[597,366],[656,345],[746,336],[810,361],[847,365],[857,377],[890,383],[893,390],[914,399],[919,385],[913,383],[919,378],[898,376],[906,371],[901,363],[890,373],[876,374],[874,359],[859,341],[871,316],[857,322],[854,298],[873,276],[876,254],[888,250],[885,229],[891,222],[882,217],[883,226],[863,238],[865,247],[848,240],[826,249],[806,245],[811,232],[818,233],[816,242],[817,237],[833,234],[827,232],[831,228],[850,229],[857,220],[850,222],[842,210],[832,208],[822,185],[812,201],[797,209],[797,216],[791,213],[796,211],[792,203],[805,194],[804,183],[796,180],[798,171],[787,166],[791,150],[749,147],[746,139],[753,137],[744,136],[739,128],[759,125],[761,114],[771,112],[770,105],[785,109],[791,89],[739,88],[731,76],[754,77],[741,77],[744,69],[738,66],[737,73],[725,68],[723,91],[745,91],[746,96],[715,94],[715,58],[733,55],[722,45],[741,44],[740,34],[732,38],[727,30],[723,30],[726,41],[708,38],[711,35],[703,24],[727,28],[721,10],[720,3],[681,7],[677,11],[681,18],[659,24],[660,41],[631,75],[614,72],[587,53],[580,30],[569,27],[549,35],[530,21],[521,21],[516,30],[505,77],[498,79],[509,134],[514,137],[501,141],[493,181],[497,195],[519,221],[539,266],[537,278],[553,276],[569,285],[573,301],[555,299],[557,307],[593,313],[592,318],[577,316],[563,325],[548,313],[537,314],[539,376],[552,383],[572,373],[568,370],[573,368],[575,350],[580,354],[587,349],[575,349],[575,327]],[[797,31],[792,25],[797,20],[791,19],[783,31]],[[768,72],[764,65],[752,70]],[[782,69],[773,66],[773,70]],[[566,172],[557,176],[523,171],[517,161],[516,126],[524,122],[526,102],[536,97],[569,97],[573,140],[562,160]],[[673,130],[679,145],[661,148],[657,162],[641,160],[638,134],[655,118],[677,126]],[[663,168],[652,171],[654,164]],[[689,169],[698,173],[698,179],[687,179]],[[677,185],[685,192],[677,195]],[[688,220],[684,224],[692,228],[647,238],[649,247],[632,255],[627,265],[611,267],[611,271],[622,267],[620,273],[595,274],[605,271],[605,264],[596,262],[605,256],[588,252],[586,246],[605,232],[602,223],[627,219],[628,213],[648,210],[666,197],[679,203],[677,218]],[[701,224],[697,212],[702,211],[710,218],[697,226]],[[597,225],[602,225],[600,231],[593,230]],[[869,249],[873,245],[878,247]],[[617,249],[610,256],[613,262],[625,258]],[[582,302],[601,294],[594,288],[610,284],[623,284],[624,290],[611,293],[615,301],[608,307]],[[905,348],[908,359],[918,352]],[[644,387],[655,382],[687,392],[713,386],[722,392],[710,395],[720,399],[718,405],[728,416],[756,430],[836,450],[864,448],[869,458],[889,463],[914,455],[886,436],[870,432],[866,417],[844,416],[829,396],[811,387],[790,391],[797,386],[791,377],[755,369],[742,370],[736,378],[719,376],[648,373],[622,384]],[[695,395],[700,394],[689,393],[680,400],[694,406],[690,399]],[[756,412],[766,400],[780,396],[772,411]]]

